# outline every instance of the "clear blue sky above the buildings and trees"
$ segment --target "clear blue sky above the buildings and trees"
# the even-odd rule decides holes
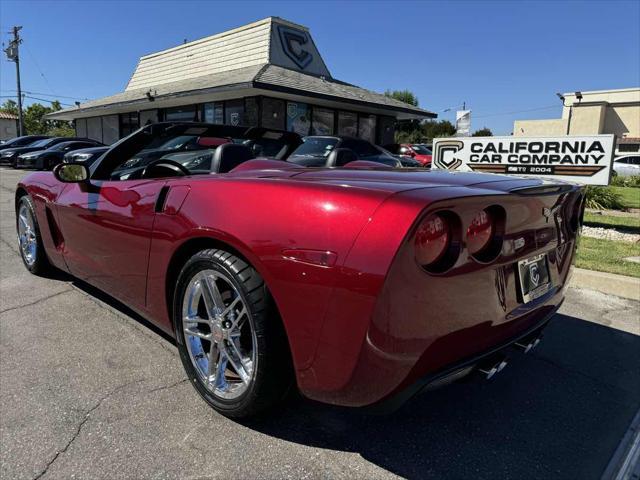
[[[497,135],[560,117],[556,92],[640,86],[640,0],[0,1],[2,42],[23,27],[22,89],[68,104],[121,92],[141,55],[268,16],[309,27],[334,78],[409,89],[438,118],[465,102]],[[0,101],[15,90],[3,55]]]

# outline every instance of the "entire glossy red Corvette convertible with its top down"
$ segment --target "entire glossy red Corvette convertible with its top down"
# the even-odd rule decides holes
[[[89,168],[25,177],[15,204],[26,267],[67,271],[174,336],[223,414],[256,414],[295,387],[387,408],[473,371],[490,377],[561,304],[579,187],[360,161],[306,168],[254,159],[286,151],[283,133],[219,128],[145,127]],[[117,174],[177,136],[208,161],[190,170],[193,158],[162,156]]]

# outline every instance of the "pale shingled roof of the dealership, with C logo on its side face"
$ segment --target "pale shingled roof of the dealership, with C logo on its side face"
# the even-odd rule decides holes
[[[287,35],[293,36],[293,43]],[[284,48],[286,43],[289,48]],[[295,51],[293,48],[299,48],[300,44],[304,50]],[[140,58],[124,92],[59,110],[48,118],[71,120],[177,105],[177,100],[185,96],[205,95],[211,101],[224,97],[230,90],[244,90],[243,96],[277,92],[276,96],[285,98],[315,97],[413,117],[436,116],[332,78],[306,27],[269,17],[145,55]]]

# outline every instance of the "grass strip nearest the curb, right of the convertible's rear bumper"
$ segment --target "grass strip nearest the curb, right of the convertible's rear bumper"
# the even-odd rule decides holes
[[[640,263],[622,260],[638,255],[640,245],[636,243],[581,237],[576,267],[640,278]]]

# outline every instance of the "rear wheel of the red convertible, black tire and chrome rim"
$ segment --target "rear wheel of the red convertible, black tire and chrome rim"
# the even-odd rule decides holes
[[[248,417],[281,403],[292,385],[288,343],[262,277],[223,250],[182,268],[174,296],[180,358],[215,410]]]

